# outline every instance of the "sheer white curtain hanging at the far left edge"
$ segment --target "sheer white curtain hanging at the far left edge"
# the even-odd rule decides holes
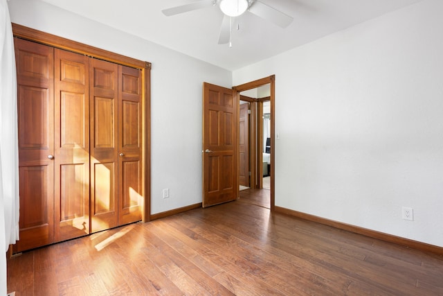
[[[0,0],[0,295],[6,295],[6,252],[19,239],[19,156],[14,40]]]

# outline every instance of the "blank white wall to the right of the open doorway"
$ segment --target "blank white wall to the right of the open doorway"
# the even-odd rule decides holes
[[[422,1],[233,72],[275,74],[277,206],[443,247],[442,12]]]

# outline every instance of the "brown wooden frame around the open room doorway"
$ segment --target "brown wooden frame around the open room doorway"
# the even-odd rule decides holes
[[[275,75],[265,78],[246,82],[242,85],[237,85],[233,89],[238,93],[244,92],[248,89],[261,87],[262,85],[270,85],[271,94],[269,101],[271,101],[271,211],[275,210]],[[239,106],[237,106],[239,107]],[[238,119],[239,120],[239,119]],[[239,169],[239,166],[237,166]],[[237,189],[239,190],[239,189]]]

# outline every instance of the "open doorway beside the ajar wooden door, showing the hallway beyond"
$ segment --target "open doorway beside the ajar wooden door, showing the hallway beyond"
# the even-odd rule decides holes
[[[271,210],[274,198],[275,76],[233,87],[239,94],[239,197]]]

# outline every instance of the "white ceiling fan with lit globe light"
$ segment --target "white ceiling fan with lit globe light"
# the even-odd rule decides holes
[[[259,0],[200,0],[181,6],[163,9],[161,11],[163,12],[163,15],[169,17],[183,12],[216,6],[217,4],[219,5],[221,12],[224,13],[223,21],[221,21],[219,44],[229,43],[229,46],[231,46],[230,35],[233,26],[233,18],[243,15],[246,11],[271,21],[273,24],[282,28],[286,28],[293,21],[293,17],[266,5]]]

